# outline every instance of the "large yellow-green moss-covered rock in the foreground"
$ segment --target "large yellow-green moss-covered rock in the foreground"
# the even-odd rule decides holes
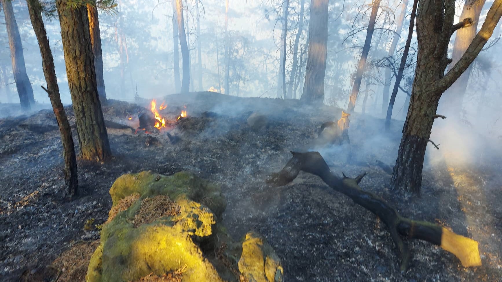
[[[216,185],[188,172],[141,172],[120,176],[110,195],[116,214],[110,213],[103,225],[87,282],[136,281],[152,272],[161,276],[179,269],[184,269],[184,282],[282,279],[280,260],[261,237],[249,235],[262,242],[254,244],[246,235],[240,245],[226,234],[221,225],[226,203]],[[156,204],[160,206],[152,206]],[[259,261],[261,274],[255,266]]]

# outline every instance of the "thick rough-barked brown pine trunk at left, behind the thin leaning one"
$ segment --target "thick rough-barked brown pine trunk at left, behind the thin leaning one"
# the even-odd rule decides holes
[[[97,94],[87,8],[80,6],[73,10],[64,0],[57,0],[56,8],[68,86],[75,111],[80,157],[84,160],[106,161],[111,158],[111,150]]]

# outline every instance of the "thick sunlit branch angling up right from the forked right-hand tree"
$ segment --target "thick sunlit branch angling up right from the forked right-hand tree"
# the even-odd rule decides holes
[[[448,71],[448,73],[446,73],[443,78],[433,83],[433,89],[437,91],[437,93],[443,93],[446,89],[448,89],[474,61],[481,49],[483,49],[483,46],[493,34],[493,30],[498,24],[500,16],[502,16],[502,0],[495,0],[488,11],[488,14],[486,14],[486,20],[484,21],[483,26],[476,34],[460,60],[458,60],[458,62]]]

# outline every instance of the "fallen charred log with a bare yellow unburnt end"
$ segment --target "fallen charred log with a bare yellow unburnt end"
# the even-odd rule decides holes
[[[402,217],[381,197],[362,191],[358,183],[364,174],[356,178],[335,176],[318,152],[291,152],[291,158],[279,172],[270,175],[268,184],[283,186],[292,182],[300,171],[319,176],[333,190],[343,193],[356,204],[378,216],[388,227],[391,237],[399,249],[401,271],[408,269],[411,254],[401,235],[408,239],[421,239],[440,245],[443,249],[456,255],[464,267],[481,265],[478,243],[470,238],[455,234],[448,229],[426,221],[417,221]]]

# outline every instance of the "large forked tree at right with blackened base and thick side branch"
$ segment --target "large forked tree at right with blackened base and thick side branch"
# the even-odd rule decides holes
[[[425,150],[439,98],[469,67],[490,38],[502,15],[502,0],[495,0],[486,20],[460,60],[446,73],[450,63],[448,44],[453,32],[472,21],[465,19],[453,25],[455,1],[420,1],[417,9],[418,55],[411,102],[403,127],[398,159],[394,166],[391,188],[420,193]]]

